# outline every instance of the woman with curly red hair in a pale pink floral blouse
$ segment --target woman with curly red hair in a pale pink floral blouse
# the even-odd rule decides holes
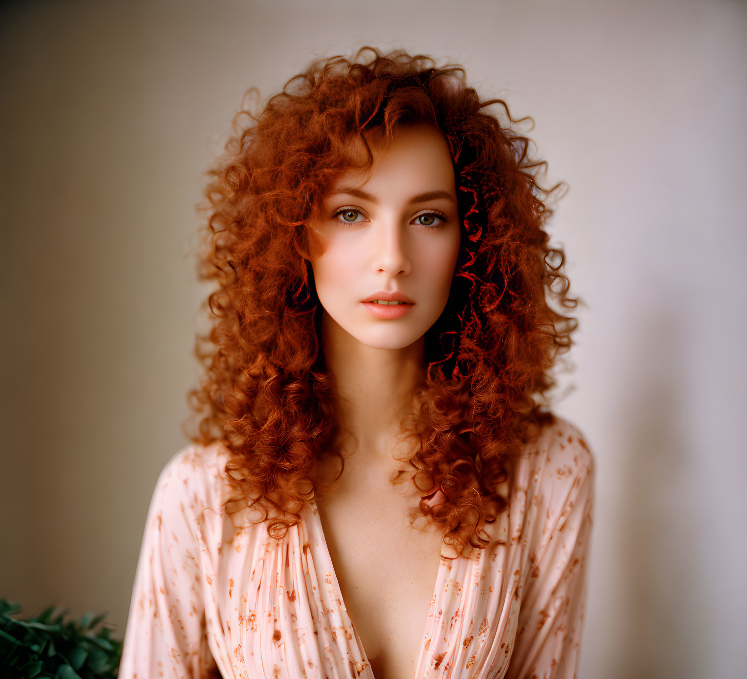
[[[572,677],[594,462],[540,164],[404,52],[312,65],[211,173],[213,326],[120,677]],[[500,104],[506,125],[488,110]]]

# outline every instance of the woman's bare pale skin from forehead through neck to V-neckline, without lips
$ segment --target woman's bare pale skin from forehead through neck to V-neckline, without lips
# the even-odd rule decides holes
[[[420,493],[391,480],[405,468],[394,459],[408,452],[400,420],[424,375],[424,334],[446,305],[460,230],[441,132],[408,125],[388,146],[372,142],[371,173],[347,171],[323,199],[311,223],[321,247],[309,254],[335,417],[350,433],[344,473],[317,508],[347,612],[382,679],[414,675],[440,564],[442,530],[412,527]],[[412,307],[376,317],[363,302],[378,291],[399,291]]]

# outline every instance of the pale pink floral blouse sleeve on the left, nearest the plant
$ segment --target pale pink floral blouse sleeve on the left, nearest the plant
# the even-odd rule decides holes
[[[146,519],[120,679],[218,677],[205,635],[202,541],[190,450],[161,471]]]

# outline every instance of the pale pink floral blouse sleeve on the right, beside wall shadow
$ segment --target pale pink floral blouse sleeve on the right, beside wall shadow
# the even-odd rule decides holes
[[[542,469],[536,500],[542,534],[530,553],[506,679],[577,676],[594,487],[594,457],[580,432],[564,423]]]

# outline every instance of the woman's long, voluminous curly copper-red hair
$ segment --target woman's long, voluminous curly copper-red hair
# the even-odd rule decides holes
[[[255,108],[237,115],[226,154],[208,171],[198,274],[217,289],[205,300],[211,328],[196,338],[205,376],[189,392],[196,426],[187,435],[228,447],[235,496],[226,507],[261,509],[270,536],[282,537],[332,487],[320,462],[335,456],[342,470],[342,432],[302,256],[308,223],[353,166],[351,139],[365,144],[371,167],[367,134],[436,125],[453,158],[461,247],[447,306],[424,338],[412,415],[400,425],[415,441],[406,462],[421,492],[418,516],[442,527],[455,555],[484,548],[486,521],[507,505],[499,486],[511,460],[553,418],[551,373],[577,326],[565,315],[577,299],[563,251],[544,230],[560,185],[538,184],[545,163],[530,158],[517,125],[530,119],[513,119],[500,99],[481,101],[461,66],[370,47],[311,64]]]

